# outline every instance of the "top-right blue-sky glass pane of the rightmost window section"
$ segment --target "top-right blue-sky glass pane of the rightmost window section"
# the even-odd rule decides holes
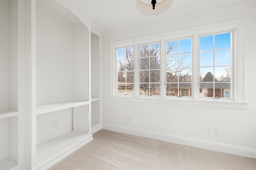
[[[231,33],[217,34],[214,37],[214,49],[229,49]]]

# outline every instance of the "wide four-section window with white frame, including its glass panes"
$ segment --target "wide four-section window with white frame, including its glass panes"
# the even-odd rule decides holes
[[[162,102],[186,98],[196,100],[190,105],[198,106],[201,100],[215,98],[245,102],[243,21],[230,23],[110,43],[111,55],[116,56],[111,61],[111,94],[131,95],[136,101],[147,101],[142,97],[162,98],[155,100]]]

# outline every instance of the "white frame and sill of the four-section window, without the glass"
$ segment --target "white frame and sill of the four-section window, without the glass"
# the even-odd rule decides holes
[[[232,101],[216,101],[214,99],[199,98],[199,35],[217,33],[222,31],[233,30],[233,100]],[[165,41],[168,39],[181,39],[182,37],[193,37],[192,42],[192,96],[191,99],[180,100],[180,98],[166,98],[165,88],[165,72],[161,71],[160,76],[160,88],[161,95],[156,97],[141,97],[138,95],[138,45],[143,43],[158,42],[161,41],[160,46],[163,47]],[[115,94],[116,84],[116,48],[134,46],[134,96],[117,96]],[[165,68],[165,60],[162,60],[162,56],[165,57],[165,48],[160,49],[161,64],[160,70]],[[166,33],[160,33],[155,35],[149,35],[144,37],[137,37],[132,39],[126,39],[122,41],[114,41],[110,43],[110,100],[116,101],[129,101],[129,102],[148,102],[148,103],[161,103],[161,104],[174,104],[174,105],[190,105],[190,106],[205,106],[205,107],[224,107],[224,108],[238,108],[248,109],[249,104],[246,102],[246,86],[245,86],[245,59],[244,59],[244,20],[231,20],[221,23],[213,23],[209,25],[202,25],[198,27],[191,27],[186,29],[180,29],[177,31],[171,31]],[[135,62],[136,61],[136,62]],[[162,68],[164,67],[164,68]],[[198,74],[197,74],[198,73]],[[196,81],[197,80],[197,81]],[[196,87],[196,88],[195,88]]]

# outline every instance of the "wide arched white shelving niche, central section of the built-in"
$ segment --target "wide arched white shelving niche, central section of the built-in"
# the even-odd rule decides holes
[[[32,81],[32,90],[36,90],[32,98],[36,102],[32,102],[32,115],[36,115],[36,133],[32,136],[36,136],[36,159],[32,159],[32,168],[44,169],[93,139],[91,31],[80,20],[82,16],[78,18],[72,9],[54,0],[36,0],[35,18],[32,72],[36,74],[32,79],[36,82]]]

